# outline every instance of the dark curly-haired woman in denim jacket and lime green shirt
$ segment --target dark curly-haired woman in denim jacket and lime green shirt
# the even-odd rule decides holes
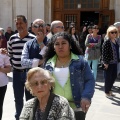
[[[45,69],[55,78],[54,93],[67,98],[70,106],[86,113],[94,94],[94,77],[72,36],[55,34],[45,53]],[[79,120],[79,116],[76,120]],[[82,120],[82,118],[81,118]]]

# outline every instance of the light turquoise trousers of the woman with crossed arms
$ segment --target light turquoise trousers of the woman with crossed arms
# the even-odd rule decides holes
[[[97,78],[97,67],[98,67],[98,59],[97,60],[87,60],[88,64],[90,66],[90,64],[92,63],[92,70],[93,70],[93,74],[94,74],[94,79],[96,80]]]

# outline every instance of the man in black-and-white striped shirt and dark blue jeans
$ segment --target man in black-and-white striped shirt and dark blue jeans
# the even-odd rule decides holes
[[[19,116],[23,107],[24,83],[27,72],[27,70],[21,66],[21,54],[24,44],[27,41],[35,38],[35,36],[28,32],[27,19],[25,16],[16,16],[15,23],[18,33],[10,37],[8,41],[8,53],[13,67],[13,90],[16,107],[15,118],[16,120],[19,120]],[[32,98],[32,95],[30,95],[27,90],[25,90],[25,95],[26,100]]]

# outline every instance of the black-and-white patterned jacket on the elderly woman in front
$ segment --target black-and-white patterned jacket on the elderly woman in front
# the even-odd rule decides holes
[[[19,120],[38,120],[35,117],[36,106],[38,106],[37,98],[28,100],[23,107]],[[58,95],[54,97],[47,120],[75,120],[74,111],[66,98]]]

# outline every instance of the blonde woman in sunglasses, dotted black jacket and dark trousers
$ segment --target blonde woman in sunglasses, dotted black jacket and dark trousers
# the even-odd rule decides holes
[[[107,29],[105,41],[102,45],[102,62],[104,65],[105,94],[112,98],[112,87],[117,77],[117,64],[119,61],[119,45],[117,43],[118,29],[111,25]]]

